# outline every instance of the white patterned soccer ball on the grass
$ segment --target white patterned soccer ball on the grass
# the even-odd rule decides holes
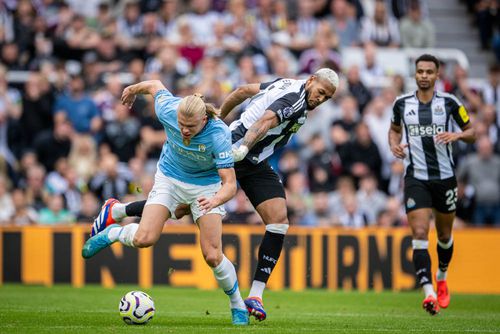
[[[141,325],[153,319],[155,304],[145,292],[130,291],[120,300],[120,316],[128,325]]]

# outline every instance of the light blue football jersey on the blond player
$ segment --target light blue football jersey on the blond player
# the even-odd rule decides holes
[[[196,185],[220,182],[219,168],[234,166],[231,151],[231,132],[220,119],[209,119],[208,123],[184,145],[177,123],[177,107],[181,98],[168,90],[155,95],[155,112],[167,133],[158,168],[176,180]]]

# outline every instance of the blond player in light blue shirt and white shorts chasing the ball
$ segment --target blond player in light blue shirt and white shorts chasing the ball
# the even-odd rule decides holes
[[[236,271],[222,253],[223,204],[236,193],[229,128],[217,118],[215,107],[206,104],[200,95],[176,97],[160,81],[151,80],[126,87],[122,103],[131,107],[136,94],[154,97],[156,115],[168,138],[154,186],[139,224],[102,224],[107,227],[87,240],[82,256],[90,258],[116,241],[137,248],[152,246],[165,221],[175,219],[175,209],[187,204],[200,229],[205,261],[230,298],[232,322],[247,325],[248,311],[240,295]],[[123,210],[125,205],[120,205]],[[120,211],[120,205],[115,205],[114,211]],[[98,219],[105,221],[107,216],[101,213]]]

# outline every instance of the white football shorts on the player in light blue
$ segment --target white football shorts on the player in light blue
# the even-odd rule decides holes
[[[157,169],[155,174],[155,183],[148,195],[146,205],[163,205],[170,211],[170,214],[172,215],[171,218],[177,219],[177,217],[175,217],[175,209],[177,206],[179,204],[189,204],[193,220],[196,223],[198,218],[202,216],[202,213],[198,208],[198,198],[213,197],[220,188],[220,182],[206,186],[185,183],[165,176],[159,169]],[[220,205],[205,214],[208,213],[216,213],[224,217],[226,215],[226,210],[224,209],[224,205]]]

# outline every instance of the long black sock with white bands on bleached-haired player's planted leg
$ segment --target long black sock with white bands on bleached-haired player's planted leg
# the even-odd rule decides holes
[[[250,297],[262,299],[266,283],[280,257],[287,231],[288,224],[266,225],[266,233],[259,247],[259,258],[257,259],[257,268],[250,289]]]

